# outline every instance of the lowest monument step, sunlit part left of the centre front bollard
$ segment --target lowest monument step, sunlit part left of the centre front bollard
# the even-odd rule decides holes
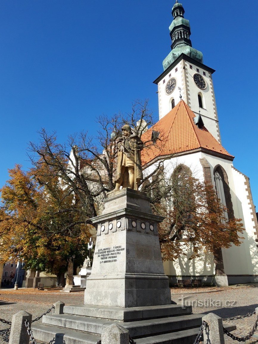
[[[54,344],[96,344],[101,338],[89,333],[60,329],[59,327],[43,324],[32,325],[32,332],[36,340]]]

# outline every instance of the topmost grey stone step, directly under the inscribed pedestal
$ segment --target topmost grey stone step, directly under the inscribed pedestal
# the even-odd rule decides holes
[[[104,307],[94,305],[65,306],[64,313],[105,318],[109,320],[136,321],[151,318],[164,318],[166,316],[186,315],[192,313],[191,306],[170,304],[146,307]]]

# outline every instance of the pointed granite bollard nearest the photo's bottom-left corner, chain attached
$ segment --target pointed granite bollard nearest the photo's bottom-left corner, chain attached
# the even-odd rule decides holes
[[[9,338],[10,344],[29,344],[30,336],[25,326],[25,319],[31,326],[32,315],[25,311],[20,311],[12,316],[12,326]]]

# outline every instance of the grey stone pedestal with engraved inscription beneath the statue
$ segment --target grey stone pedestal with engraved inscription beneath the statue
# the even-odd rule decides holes
[[[171,304],[157,224],[145,193],[122,189],[109,193],[98,225],[92,273],[84,303],[109,307]]]

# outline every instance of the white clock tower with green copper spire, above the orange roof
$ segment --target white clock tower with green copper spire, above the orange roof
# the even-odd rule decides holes
[[[205,128],[221,143],[212,81],[215,70],[204,65],[203,54],[192,47],[190,23],[178,1],[172,15],[171,52],[163,61],[164,72],[154,80],[158,85],[159,119],[179,103],[181,95],[197,117],[200,111]]]

